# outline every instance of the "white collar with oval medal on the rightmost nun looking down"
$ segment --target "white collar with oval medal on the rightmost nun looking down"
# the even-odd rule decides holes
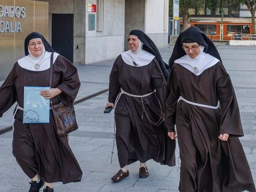
[[[200,54],[195,58],[191,58],[186,54],[185,56],[176,59],[174,62],[182,65],[182,67],[185,67],[187,70],[197,76],[201,75],[206,69],[212,67],[220,61],[216,57],[203,52],[203,49],[204,47],[200,46]]]

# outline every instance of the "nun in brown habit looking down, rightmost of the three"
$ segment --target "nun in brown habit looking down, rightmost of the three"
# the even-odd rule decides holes
[[[179,143],[179,191],[255,192],[239,141],[244,133],[236,94],[217,49],[201,30],[190,27],[173,50],[166,126]]]

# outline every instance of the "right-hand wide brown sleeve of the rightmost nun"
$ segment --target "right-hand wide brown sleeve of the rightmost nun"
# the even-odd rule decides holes
[[[231,78],[221,62],[217,65],[216,91],[221,107],[220,134],[228,133],[230,136],[243,136],[239,107]]]

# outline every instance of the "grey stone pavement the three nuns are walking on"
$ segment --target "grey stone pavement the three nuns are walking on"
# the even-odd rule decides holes
[[[172,49],[160,50],[164,61],[168,61]],[[218,50],[233,80],[245,133],[241,142],[256,182],[256,47],[218,44]],[[82,82],[77,99],[108,88],[108,77],[113,61],[85,66],[77,65]],[[62,192],[178,191],[178,166],[168,167],[153,161],[147,162],[150,173],[148,178],[138,178],[139,163],[135,162],[128,167],[129,177],[120,183],[111,182],[110,178],[119,169],[119,164],[116,149],[113,164],[110,164],[113,144],[113,113],[103,114],[107,99],[108,93],[103,93],[75,105],[79,130],[70,134],[69,138],[70,146],[83,170],[82,182],[66,185],[55,183],[54,190]],[[0,126],[11,124],[11,114],[10,109],[0,119]],[[28,191],[30,180],[12,156],[11,131],[0,135],[0,151],[0,191]]]

